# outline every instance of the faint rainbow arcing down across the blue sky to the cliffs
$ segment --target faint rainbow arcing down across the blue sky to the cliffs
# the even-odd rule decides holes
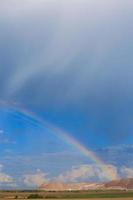
[[[59,127],[57,127],[57,126],[45,121],[44,119],[40,118],[35,113],[23,108],[22,106],[19,107],[16,104],[9,105],[8,103],[5,103],[5,102],[4,103],[0,102],[0,105],[2,105],[2,107],[3,106],[6,106],[6,107],[8,106],[9,109],[11,109],[12,111],[20,112],[20,113],[24,114],[25,116],[34,119],[38,124],[41,124],[42,126],[47,128],[48,130],[50,130],[53,134],[55,134],[56,136],[62,138],[68,144],[73,145],[84,156],[88,157],[93,162],[95,162],[100,167],[102,172],[104,172],[104,174],[106,175],[106,178],[108,180],[116,179],[116,173],[114,173],[114,171],[111,169],[110,165],[107,165],[106,163],[104,163],[96,155],[96,153],[94,153],[91,149],[89,149],[89,148],[85,147],[83,144],[81,144],[78,140],[76,140],[73,136],[71,136],[70,133],[68,133],[65,130],[63,130],[63,129],[61,129],[61,128],[59,128]]]

